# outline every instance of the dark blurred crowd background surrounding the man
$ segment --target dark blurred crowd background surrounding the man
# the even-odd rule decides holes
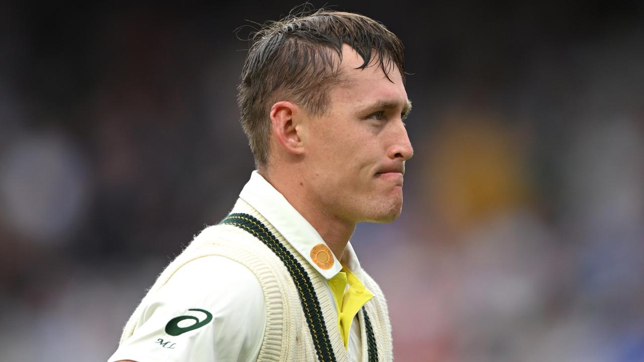
[[[238,37],[298,4],[0,3],[0,361],[117,348],[254,168]],[[644,4],[327,4],[412,73],[403,214],[352,238],[396,361],[644,361]]]

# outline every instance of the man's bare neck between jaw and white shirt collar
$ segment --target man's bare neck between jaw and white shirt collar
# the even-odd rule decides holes
[[[354,233],[355,223],[342,220],[323,207],[319,207],[321,203],[311,197],[312,193],[307,191],[305,182],[298,176],[294,176],[301,173],[269,172],[267,169],[260,169],[258,172],[287,199],[308,224],[316,229],[339,262],[345,252],[346,244]]]

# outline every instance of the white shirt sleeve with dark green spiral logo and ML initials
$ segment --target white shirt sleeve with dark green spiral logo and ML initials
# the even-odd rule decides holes
[[[109,362],[250,362],[260,351],[266,305],[249,269],[223,256],[205,256],[170,278],[138,325]]]

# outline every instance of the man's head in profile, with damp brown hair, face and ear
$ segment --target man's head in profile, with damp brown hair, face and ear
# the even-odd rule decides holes
[[[413,153],[401,41],[368,17],[328,11],[253,40],[238,100],[258,169],[288,172],[334,217],[395,219]]]

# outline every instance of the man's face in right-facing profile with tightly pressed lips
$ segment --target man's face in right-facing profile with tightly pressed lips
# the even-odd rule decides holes
[[[373,62],[373,60],[372,60]],[[327,113],[305,126],[305,180],[312,200],[346,222],[390,222],[403,206],[404,163],[413,155],[403,119],[410,109],[395,66],[387,79],[343,48],[348,81],[330,90]]]

